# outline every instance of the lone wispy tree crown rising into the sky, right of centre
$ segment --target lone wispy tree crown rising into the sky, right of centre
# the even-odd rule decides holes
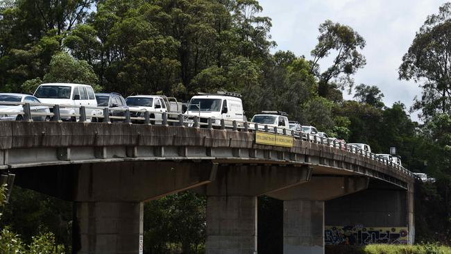
[[[318,94],[326,97],[330,81],[335,80],[338,87],[352,87],[352,74],[366,65],[365,57],[359,52],[364,49],[365,40],[350,26],[326,20],[318,28],[318,44],[312,50],[313,56],[310,71],[318,77]],[[332,66],[323,73],[318,71],[318,61],[337,51]],[[341,75],[343,74],[343,75]]]

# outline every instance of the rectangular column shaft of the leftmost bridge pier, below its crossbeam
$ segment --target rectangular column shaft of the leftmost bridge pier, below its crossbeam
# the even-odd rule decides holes
[[[140,253],[143,203],[76,202],[75,206],[73,253]]]

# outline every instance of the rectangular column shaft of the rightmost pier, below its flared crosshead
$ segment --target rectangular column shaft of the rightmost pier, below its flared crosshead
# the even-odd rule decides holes
[[[284,254],[324,254],[324,201],[284,201]]]

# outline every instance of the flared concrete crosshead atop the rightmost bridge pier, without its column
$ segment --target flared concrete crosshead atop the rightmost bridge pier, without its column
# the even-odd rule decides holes
[[[364,177],[313,176],[308,183],[271,192],[267,196],[280,200],[327,201],[359,192],[368,187]]]

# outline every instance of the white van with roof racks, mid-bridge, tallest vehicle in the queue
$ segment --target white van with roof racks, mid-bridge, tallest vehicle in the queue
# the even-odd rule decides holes
[[[218,126],[221,119],[226,124],[232,121],[244,121],[243,103],[240,94],[231,92],[218,92],[218,94],[200,94],[193,96],[189,101],[185,115],[198,115],[201,123],[207,123],[207,118],[212,118],[212,124]],[[237,124],[241,126],[241,124]]]

